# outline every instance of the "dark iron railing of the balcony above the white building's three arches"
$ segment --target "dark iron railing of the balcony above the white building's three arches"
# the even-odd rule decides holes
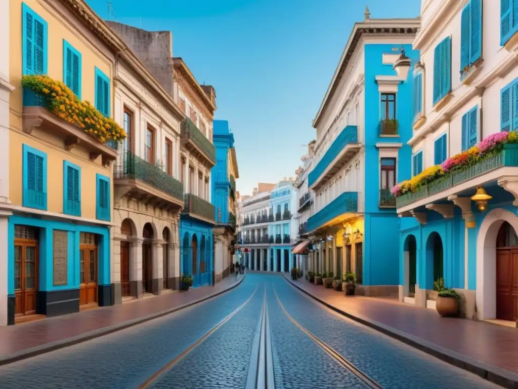
[[[137,157],[131,151],[122,152],[114,166],[115,179],[135,179],[179,200],[183,199],[183,184],[155,166]],[[211,219],[214,218],[212,211]]]

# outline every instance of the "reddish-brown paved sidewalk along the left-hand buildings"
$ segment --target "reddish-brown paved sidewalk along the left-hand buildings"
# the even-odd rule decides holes
[[[100,307],[35,322],[0,327],[0,365],[110,334],[178,311],[238,286],[231,274],[215,286],[173,291],[125,304]]]

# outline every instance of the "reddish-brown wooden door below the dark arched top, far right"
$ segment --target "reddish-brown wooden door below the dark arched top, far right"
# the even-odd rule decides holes
[[[518,249],[496,251],[496,318],[518,319]]]

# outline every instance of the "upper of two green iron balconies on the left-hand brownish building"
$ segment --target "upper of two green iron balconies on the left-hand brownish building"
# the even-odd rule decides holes
[[[216,149],[189,118],[180,125],[180,143],[209,168],[216,164]]]

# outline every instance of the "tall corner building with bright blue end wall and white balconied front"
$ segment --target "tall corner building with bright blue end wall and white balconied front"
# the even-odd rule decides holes
[[[390,189],[410,177],[416,19],[356,23],[313,121],[310,270],[356,275],[356,293],[398,294],[399,219]],[[368,19],[368,20],[367,20]]]

